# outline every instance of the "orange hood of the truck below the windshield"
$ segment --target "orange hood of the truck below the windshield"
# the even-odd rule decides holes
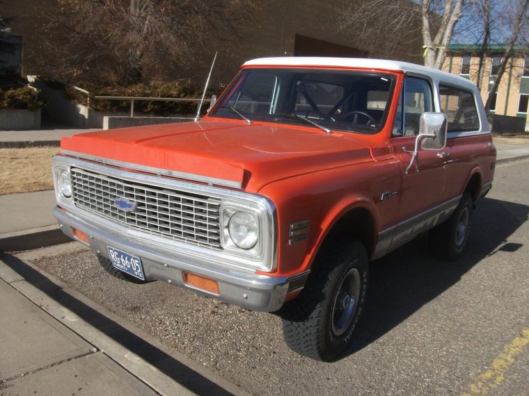
[[[62,138],[61,151],[221,179],[251,192],[272,181],[372,160],[368,147],[349,133],[207,120],[82,133]]]

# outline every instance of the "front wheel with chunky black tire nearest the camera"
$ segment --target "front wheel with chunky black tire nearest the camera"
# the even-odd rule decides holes
[[[352,341],[367,285],[368,256],[360,242],[326,247],[300,295],[281,310],[290,349],[319,361],[335,360]]]

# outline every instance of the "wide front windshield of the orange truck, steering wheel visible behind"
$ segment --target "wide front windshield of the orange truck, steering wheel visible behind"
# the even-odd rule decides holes
[[[394,82],[383,73],[245,69],[210,115],[376,133],[386,122]]]

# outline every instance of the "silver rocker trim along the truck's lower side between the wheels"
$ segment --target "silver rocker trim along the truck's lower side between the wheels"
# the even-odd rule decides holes
[[[459,195],[458,197],[443,202],[443,204],[430,208],[423,213],[414,215],[403,222],[380,231],[372,259],[384,256],[384,254],[389,251],[397,249],[397,247],[412,240],[418,236],[419,233],[422,233],[427,229],[432,229],[437,224],[441,224],[441,222],[450,217],[452,212],[455,211],[461,197],[462,196]]]

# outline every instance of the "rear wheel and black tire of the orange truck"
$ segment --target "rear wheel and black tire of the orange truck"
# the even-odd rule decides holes
[[[454,213],[429,232],[429,244],[437,256],[453,261],[463,252],[471,229],[473,201],[465,192]]]

